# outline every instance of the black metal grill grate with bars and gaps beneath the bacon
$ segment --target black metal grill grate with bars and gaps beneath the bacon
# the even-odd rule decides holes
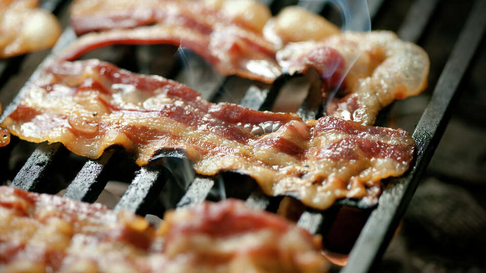
[[[332,15],[328,6],[318,2],[302,1],[296,3],[292,0],[280,2],[265,0],[264,2],[271,7],[273,13],[276,13],[284,6],[297,4],[316,13]],[[46,0],[43,1],[42,6],[55,13],[65,14],[67,4],[61,0]],[[384,9],[393,9],[393,5],[399,6],[402,4],[394,1],[368,0],[370,16],[373,22],[380,20]],[[413,1],[408,7],[404,20],[401,23],[398,22],[397,34],[401,39],[419,42],[419,39],[427,31],[429,21],[433,19],[438,9],[437,0]],[[353,240],[348,247],[335,247],[336,252],[347,253],[350,250],[347,265],[342,268],[342,272],[370,271],[376,262],[380,260],[388,246],[397,228],[398,221],[406,210],[419,184],[420,177],[426,169],[447,125],[451,102],[464,73],[470,65],[486,26],[484,12],[486,12],[486,2],[477,0],[471,5],[469,15],[455,41],[449,59],[441,69],[436,84],[431,84],[432,86],[429,87],[430,90],[433,89],[430,101],[413,133],[413,138],[416,142],[416,154],[412,166],[403,176],[387,179],[386,187],[384,187],[378,205],[375,207],[362,207],[354,200],[345,199],[339,201],[327,211],[316,211],[305,208],[301,204],[299,205],[299,202],[294,199],[286,200],[290,200],[293,204],[295,203],[294,207],[297,210],[294,213],[296,215],[288,216],[295,218],[294,220],[297,220],[298,225],[311,233],[321,233],[323,238],[325,238],[325,246],[330,248],[332,240],[330,241],[326,235],[332,228],[333,223],[339,221],[340,214],[347,213],[355,217],[359,215],[359,217],[364,219],[363,225],[358,227],[360,232],[357,231],[356,234],[359,234],[359,236],[356,236],[355,242]],[[66,28],[53,52],[60,51],[73,39],[75,39],[75,35],[72,29]],[[169,49],[169,47],[164,49]],[[146,56],[150,56],[151,50],[152,48],[146,46],[131,47],[129,50],[121,48],[121,51],[125,51],[123,54],[128,54],[135,60],[135,65],[128,65],[132,66],[130,70],[136,69],[142,73],[149,69],[152,60],[149,60],[150,58]],[[171,48],[167,55],[170,56],[174,52],[174,49]],[[119,52],[116,54],[119,54]],[[185,54],[190,55],[191,53],[185,52]],[[21,56],[0,62],[0,87],[3,87],[9,80],[25,82],[25,77],[23,79],[16,79],[15,77],[18,77],[17,73],[20,67],[25,65],[26,62],[28,62],[28,65],[38,64],[40,59],[35,56],[44,57],[45,54],[31,54],[27,57]],[[44,61],[48,61],[49,58],[47,57]],[[197,60],[197,57],[195,59]],[[157,60],[156,62],[159,61]],[[163,75],[166,77],[174,76],[176,79],[184,82],[184,75],[188,74],[188,68],[184,68],[179,62],[174,62],[174,60],[168,63],[170,64],[165,65],[166,72]],[[207,67],[208,64],[202,61],[200,65],[205,67],[206,70],[211,69]],[[135,69],[133,69],[134,67]],[[434,67],[434,60],[432,59],[432,69]],[[195,70],[197,73],[201,71],[201,68],[195,67]],[[31,78],[36,77],[36,74],[34,72]],[[289,80],[292,80],[290,76],[282,75],[272,85],[267,85],[234,76],[215,76],[210,83],[201,83],[204,85],[204,88],[202,88],[204,90],[201,90],[201,88],[195,89],[205,99],[218,101],[225,96],[224,90],[231,89],[236,85],[239,85],[238,88],[244,86],[246,92],[239,100],[241,105],[252,109],[269,110],[277,99],[282,86]],[[315,99],[316,96],[320,98],[320,94],[318,93],[318,88],[313,87],[314,85],[311,82],[307,97],[297,111],[303,119],[318,117],[318,113],[323,107],[320,101]],[[3,103],[10,101],[10,98],[15,95],[15,91],[12,91],[14,90],[7,89],[7,86],[3,88],[2,93],[0,93]],[[19,97],[20,95],[6,109],[2,120],[8,114],[9,109],[15,107]],[[389,119],[390,109],[391,107],[387,107],[380,112],[380,116],[377,119],[378,125],[385,124]],[[29,144],[13,138],[11,145],[0,150],[2,158],[0,159],[0,164],[6,166],[9,159],[15,156],[16,149],[19,146],[27,145]],[[60,143],[52,145],[42,143],[34,149],[20,170],[14,168],[14,173],[4,171],[0,174],[0,179],[3,181],[11,179],[11,186],[23,190],[55,193],[58,191],[58,188],[63,188],[62,185],[56,184],[55,176],[56,173],[61,172],[60,166],[66,164],[66,157],[68,157],[68,160],[71,160],[73,156],[69,155]],[[166,208],[188,207],[204,200],[235,197],[245,199],[247,204],[253,208],[275,212],[279,203],[282,202],[282,197],[269,198],[264,196],[251,178],[237,173],[223,172],[216,177],[196,175],[192,168],[189,167],[190,163],[181,151],[160,151],[149,165],[135,170],[134,174],[130,174],[130,172],[135,169],[135,166],[129,162],[129,159],[125,158],[128,158],[128,156],[123,151],[111,148],[105,151],[98,160],[84,160],[82,166],[73,164],[74,172],[72,170],[69,171],[73,172],[72,176],[74,178],[68,184],[64,196],[75,200],[94,202],[105,188],[108,180],[126,180],[126,177],[133,177],[127,191],[116,204],[115,210],[127,209],[140,215],[153,213],[153,211],[157,211],[157,202],[160,202],[159,196],[161,192],[170,193],[170,197],[164,195],[167,197],[167,200],[164,200]],[[181,171],[188,167],[191,172]],[[235,180],[238,183],[234,183]]]

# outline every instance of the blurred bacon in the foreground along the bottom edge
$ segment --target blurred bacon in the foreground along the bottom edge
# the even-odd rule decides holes
[[[225,200],[166,213],[155,230],[47,194],[0,187],[2,272],[321,272],[320,240],[294,224]]]

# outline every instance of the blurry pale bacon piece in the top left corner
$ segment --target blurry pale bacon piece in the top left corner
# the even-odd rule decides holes
[[[0,58],[50,48],[60,34],[56,17],[37,0],[0,1]]]

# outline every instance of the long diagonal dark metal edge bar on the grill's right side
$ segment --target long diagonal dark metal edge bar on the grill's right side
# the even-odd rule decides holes
[[[484,12],[486,2],[477,0],[413,133],[417,148],[414,164],[406,175],[392,179],[393,187],[384,190],[342,272],[368,272],[383,255],[446,128],[451,100],[484,34]]]

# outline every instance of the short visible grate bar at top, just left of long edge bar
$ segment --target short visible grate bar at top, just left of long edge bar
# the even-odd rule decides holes
[[[397,31],[403,40],[417,42],[432,17],[438,0],[416,0]]]

